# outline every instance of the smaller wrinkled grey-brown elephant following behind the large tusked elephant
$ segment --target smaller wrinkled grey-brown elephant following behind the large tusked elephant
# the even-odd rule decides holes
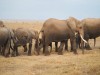
[[[13,37],[13,43],[14,43],[14,50],[13,50],[13,56],[18,56],[18,47],[23,46],[24,52],[27,52],[27,43],[29,43],[29,50],[28,55],[31,55],[31,49],[32,49],[32,39],[35,39],[35,41],[38,39],[38,32],[33,29],[25,29],[25,28],[17,28],[14,30],[14,37]]]

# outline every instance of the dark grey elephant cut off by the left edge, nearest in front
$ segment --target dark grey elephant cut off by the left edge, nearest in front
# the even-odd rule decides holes
[[[8,57],[11,43],[11,32],[7,27],[0,26],[0,52],[3,56]]]

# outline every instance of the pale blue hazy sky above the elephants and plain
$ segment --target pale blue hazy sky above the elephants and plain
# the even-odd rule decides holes
[[[100,0],[0,0],[0,19],[100,18]]]

